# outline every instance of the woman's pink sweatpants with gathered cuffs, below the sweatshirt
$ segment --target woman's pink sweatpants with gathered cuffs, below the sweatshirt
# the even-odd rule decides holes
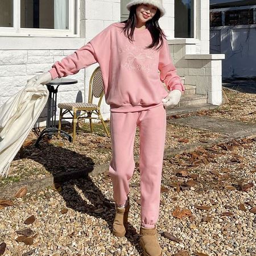
[[[160,186],[166,139],[166,110],[163,105],[139,112],[110,113],[112,159],[109,172],[113,197],[125,204],[134,173],[134,139],[139,127],[139,171],[141,174],[141,224],[154,228],[159,217]]]

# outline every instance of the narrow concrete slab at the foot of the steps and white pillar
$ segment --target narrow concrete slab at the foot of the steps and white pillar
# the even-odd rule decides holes
[[[176,107],[176,108],[172,108],[172,109],[167,108],[166,117],[171,116],[171,115],[194,113],[194,112],[199,112],[202,110],[216,109],[216,108],[218,108],[218,106],[212,105],[212,104],[182,106],[182,107]]]

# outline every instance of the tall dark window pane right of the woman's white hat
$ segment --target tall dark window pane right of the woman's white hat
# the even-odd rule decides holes
[[[175,38],[194,37],[194,0],[175,0]]]

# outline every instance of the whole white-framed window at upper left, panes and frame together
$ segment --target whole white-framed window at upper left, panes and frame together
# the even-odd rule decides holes
[[[0,0],[0,36],[75,36],[77,0]]]

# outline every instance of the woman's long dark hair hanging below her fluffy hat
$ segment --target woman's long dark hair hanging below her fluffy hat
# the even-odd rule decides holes
[[[135,26],[137,23],[137,16],[136,16],[137,6],[138,5],[131,6],[129,18],[121,22],[121,23],[125,23],[125,27],[122,28],[123,34],[125,34],[125,36],[130,40],[130,42],[134,41],[133,34],[134,34]],[[152,38],[152,43],[146,47],[148,49],[157,47],[160,42],[159,47],[156,48],[158,50],[160,47],[162,47],[163,38],[166,39],[166,35],[164,34],[163,30],[159,26],[159,23],[158,23],[159,18],[160,18],[160,11],[159,9],[157,9],[153,18],[146,22],[145,26],[150,31],[151,38]]]

